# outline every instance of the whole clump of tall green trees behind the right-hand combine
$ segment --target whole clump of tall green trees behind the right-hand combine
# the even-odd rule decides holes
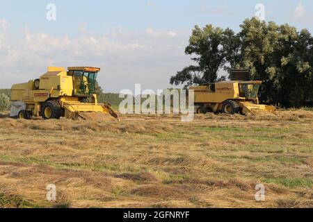
[[[193,65],[170,78],[172,85],[201,85],[225,80],[224,69],[248,69],[252,80],[263,80],[262,102],[285,107],[313,100],[313,37],[307,29],[262,22],[253,17],[230,28],[195,26],[185,53]]]

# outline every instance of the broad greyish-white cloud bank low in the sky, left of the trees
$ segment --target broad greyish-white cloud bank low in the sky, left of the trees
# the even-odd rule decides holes
[[[97,66],[99,83],[106,92],[143,87],[169,87],[170,76],[190,63],[184,55],[189,33],[175,31],[129,32],[115,28],[105,35],[81,33],[77,37],[48,33],[10,33],[0,19],[0,88],[38,78],[47,66]]]

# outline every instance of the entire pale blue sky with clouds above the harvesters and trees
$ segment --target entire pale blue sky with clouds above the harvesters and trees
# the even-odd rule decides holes
[[[56,21],[46,19],[47,4]],[[36,78],[49,65],[102,67],[106,92],[169,87],[172,74],[188,65],[184,47],[193,26],[214,24],[239,31],[244,19],[265,6],[266,21],[313,33],[313,1],[1,1],[0,69],[10,87]]]

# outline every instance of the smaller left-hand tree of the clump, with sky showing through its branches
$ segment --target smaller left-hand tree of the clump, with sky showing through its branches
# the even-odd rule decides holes
[[[178,71],[170,78],[170,83],[188,86],[216,81],[218,70],[226,62],[227,53],[223,47],[225,39],[225,31],[222,28],[214,28],[212,25],[204,28],[195,26],[185,50],[186,55],[193,56],[191,60],[195,65]]]

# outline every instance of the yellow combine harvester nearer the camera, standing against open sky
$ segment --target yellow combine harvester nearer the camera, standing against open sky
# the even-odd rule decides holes
[[[11,117],[31,119],[106,119],[118,114],[109,104],[99,104],[95,67],[48,67],[47,73],[11,88]]]

